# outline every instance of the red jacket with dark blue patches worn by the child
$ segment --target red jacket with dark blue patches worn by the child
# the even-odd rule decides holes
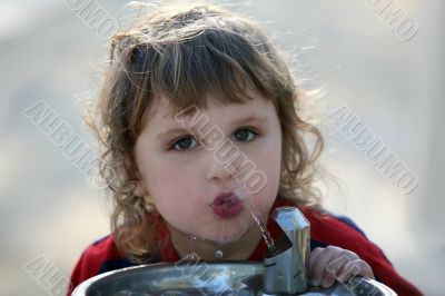
[[[274,208],[283,205],[290,205],[289,203],[290,201],[277,198]],[[310,223],[310,249],[327,247],[329,245],[349,249],[369,264],[377,280],[393,288],[398,295],[422,295],[416,287],[397,274],[383,251],[369,241],[364,233],[358,229],[350,219],[322,214],[310,208],[300,209]],[[160,216],[158,217],[160,218]],[[273,238],[278,237],[281,233],[271,219],[268,220],[267,228]],[[160,235],[161,237],[168,236],[168,230],[165,225],[160,229]],[[266,244],[261,239],[257,248],[250,255],[249,260],[263,262]],[[154,258],[151,263],[175,263],[177,260],[179,260],[179,256],[169,240],[167,247],[164,248],[159,256]],[[80,283],[92,276],[134,265],[136,264],[120,254],[112,236],[106,236],[90,245],[81,255],[72,270],[70,278],[71,285],[68,294]]]

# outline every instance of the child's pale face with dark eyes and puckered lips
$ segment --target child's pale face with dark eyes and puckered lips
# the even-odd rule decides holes
[[[158,100],[148,115],[135,147],[139,181],[138,196],[149,195],[164,219],[190,236],[229,243],[240,238],[255,221],[251,209],[266,218],[278,193],[281,159],[281,130],[271,101],[255,93],[243,105],[216,105],[208,96],[208,108],[199,110],[208,116],[208,127],[217,127],[225,139],[230,139],[266,176],[264,187],[235,203],[216,210],[215,199],[221,193],[235,191],[239,184],[217,159],[215,149],[197,141],[175,119],[169,102]],[[194,116],[184,118],[191,122]],[[257,134],[257,135],[256,135]],[[204,139],[206,140],[206,139]],[[220,206],[220,205],[219,205]],[[224,207],[224,206],[222,206]]]

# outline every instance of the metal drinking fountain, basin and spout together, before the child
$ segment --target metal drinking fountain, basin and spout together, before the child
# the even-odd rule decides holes
[[[384,284],[358,276],[345,283],[336,282],[329,288],[310,286],[309,223],[295,207],[278,207],[270,217],[283,229],[283,234],[268,244],[263,264],[186,258],[176,264],[139,265],[87,279],[72,295],[396,295]]]

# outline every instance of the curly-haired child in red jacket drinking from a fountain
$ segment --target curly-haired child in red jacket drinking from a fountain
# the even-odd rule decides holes
[[[298,116],[301,93],[256,24],[208,4],[158,7],[113,36],[110,58],[91,127],[113,197],[111,235],[85,250],[70,292],[191,253],[261,262],[255,219],[275,238],[269,213],[288,205],[310,223],[312,285],[359,275],[421,295],[352,220],[323,210],[313,188],[322,136]]]

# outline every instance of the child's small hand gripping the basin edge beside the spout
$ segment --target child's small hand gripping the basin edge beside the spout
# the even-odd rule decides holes
[[[328,246],[310,253],[309,279],[313,286],[328,288],[336,279],[344,283],[357,275],[374,279],[370,266],[354,251]]]

